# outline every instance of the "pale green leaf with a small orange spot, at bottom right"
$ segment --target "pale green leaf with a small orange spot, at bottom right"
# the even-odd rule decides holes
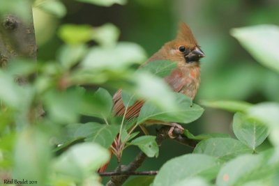
[[[241,155],[227,162],[218,173],[216,183],[220,186],[236,185],[241,177],[260,168],[262,157],[259,155]]]

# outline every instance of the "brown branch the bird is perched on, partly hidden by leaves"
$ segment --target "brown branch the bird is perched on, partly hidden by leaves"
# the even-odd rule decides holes
[[[168,132],[169,127],[167,126],[163,126],[157,131],[156,142],[158,146],[162,144],[163,140],[169,139]],[[183,136],[183,131],[178,128],[175,128],[172,133],[174,135],[174,140],[178,141],[180,144],[190,147],[195,147],[197,145],[198,141],[188,139],[187,137]],[[129,178],[129,176],[139,175],[134,173],[142,165],[142,162],[144,162],[145,158],[146,155],[143,152],[140,152],[137,157],[135,157],[133,162],[130,162],[130,164],[119,165],[116,167],[114,172],[100,173],[100,176],[109,176],[107,174],[112,173],[112,177],[110,178],[110,181],[106,184],[106,186],[121,186]]]

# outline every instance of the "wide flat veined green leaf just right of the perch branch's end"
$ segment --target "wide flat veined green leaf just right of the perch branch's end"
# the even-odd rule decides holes
[[[237,155],[252,153],[252,150],[236,139],[210,138],[199,142],[193,153],[211,155],[227,161]]]

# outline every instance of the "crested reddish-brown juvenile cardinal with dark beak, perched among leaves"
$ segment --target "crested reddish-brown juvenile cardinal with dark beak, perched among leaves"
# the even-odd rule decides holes
[[[169,41],[163,47],[153,54],[146,63],[152,63],[157,60],[169,60],[177,63],[177,68],[164,78],[165,82],[169,84],[173,91],[188,95],[188,97],[195,98],[197,88],[200,82],[200,67],[199,59],[204,57],[204,52],[199,48],[190,28],[185,24],[179,25],[179,31],[174,40]],[[145,65],[144,63],[143,65]],[[121,90],[117,91],[113,97],[114,107],[113,111],[116,116],[123,116],[125,106],[121,99]],[[133,106],[128,107],[126,111],[126,119],[131,119],[139,116],[140,109],[144,101],[138,100]],[[163,125],[170,125],[173,127],[181,127],[176,123],[165,123],[164,121],[146,121],[146,123],[160,123]],[[181,127],[182,128],[182,127]],[[183,128],[182,128],[183,129]],[[172,132],[172,130],[170,130]],[[172,135],[169,133],[169,135]],[[117,140],[115,140],[117,141]],[[116,144],[112,144],[116,146]],[[107,164],[103,166],[99,172],[105,171]]]

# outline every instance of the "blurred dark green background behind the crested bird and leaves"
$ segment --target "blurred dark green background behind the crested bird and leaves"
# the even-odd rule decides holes
[[[229,34],[232,28],[242,26],[278,25],[278,0],[130,0],[126,6],[108,8],[77,1],[65,0],[63,3],[68,13],[61,19],[34,8],[38,59],[47,61],[55,58],[62,43],[56,34],[60,24],[100,26],[110,22],[119,27],[120,40],[137,42],[151,56],[175,37],[179,22],[186,22],[206,54],[201,62],[202,82],[194,102],[279,101],[279,75],[257,63]],[[116,90],[110,91],[113,94]],[[202,117],[187,127],[194,134],[231,134],[231,122],[231,113],[206,108]],[[149,130],[152,133],[155,128]],[[146,160],[140,169],[156,170],[171,157],[191,150],[173,141],[165,141],[159,157]],[[123,162],[130,162],[138,152],[137,148],[126,150]],[[116,167],[115,162],[113,160],[109,170]]]

